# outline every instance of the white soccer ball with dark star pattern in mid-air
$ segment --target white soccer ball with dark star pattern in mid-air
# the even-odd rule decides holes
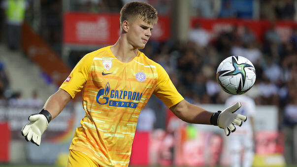
[[[232,95],[241,95],[252,88],[256,81],[254,65],[245,57],[230,56],[217,69],[217,82]]]

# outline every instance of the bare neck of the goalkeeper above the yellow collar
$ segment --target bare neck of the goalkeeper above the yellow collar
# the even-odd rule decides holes
[[[127,40],[121,35],[118,41],[110,47],[112,54],[121,62],[131,62],[137,55],[138,49],[134,48]]]

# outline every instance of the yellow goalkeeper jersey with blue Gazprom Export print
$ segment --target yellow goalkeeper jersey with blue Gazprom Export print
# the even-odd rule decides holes
[[[151,95],[169,108],[183,97],[165,69],[142,52],[123,63],[110,47],[85,55],[60,89],[74,98],[84,88],[86,115],[69,149],[86,154],[103,167],[128,167],[138,116]]]

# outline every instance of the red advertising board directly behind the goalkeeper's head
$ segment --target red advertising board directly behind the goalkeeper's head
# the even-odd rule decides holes
[[[120,15],[112,13],[66,13],[64,43],[82,45],[114,44],[120,36]],[[169,17],[159,17],[152,38],[166,40],[170,36]]]

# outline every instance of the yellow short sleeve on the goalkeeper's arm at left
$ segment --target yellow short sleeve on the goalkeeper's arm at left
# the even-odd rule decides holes
[[[73,99],[75,95],[82,90],[84,84],[87,82],[93,59],[94,55],[85,55],[76,64],[59,89],[65,90]]]

